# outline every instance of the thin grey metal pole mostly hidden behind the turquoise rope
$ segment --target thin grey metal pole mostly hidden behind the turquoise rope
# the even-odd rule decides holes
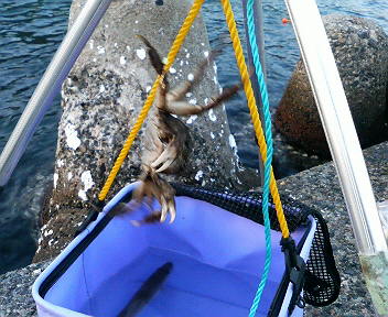
[[[247,25],[247,2],[248,0],[242,0],[242,11],[244,11],[244,24],[245,24],[245,33],[246,33],[246,39],[247,39],[247,55],[248,55],[248,67],[249,69],[255,69],[254,66],[254,57],[252,57],[252,52],[250,47],[250,42],[248,41],[248,25]],[[265,32],[263,32],[263,12],[262,12],[262,2],[260,1],[255,1],[254,4],[254,19],[255,19],[255,32],[257,35],[258,40],[258,47],[259,47],[259,55],[260,55],[260,64],[262,68],[262,73],[265,75],[265,78],[267,80],[267,72],[266,72],[266,56],[265,56]],[[254,94],[257,102],[260,105],[259,108],[259,116],[261,120],[261,128],[263,131],[266,131],[266,122],[263,120],[263,113],[262,113],[262,102],[261,102],[261,94],[260,94],[260,87],[258,87],[258,79],[256,76],[256,72],[252,72],[251,77],[254,78],[252,80],[252,87],[254,87]],[[261,178],[261,185],[265,184],[265,166],[261,160],[261,155],[259,152],[259,171],[260,171],[260,178]]]

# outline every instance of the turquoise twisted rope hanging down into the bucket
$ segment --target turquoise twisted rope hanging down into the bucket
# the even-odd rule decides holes
[[[254,303],[250,307],[249,317],[255,317],[256,315],[257,308],[261,299],[262,292],[265,289],[265,286],[268,280],[269,269],[271,265],[271,256],[272,256],[271,227],[270,227],[270,220],[269,220],[269,214],[268,214],[269,184],[270,184],[270,177],[271,177],[271,164],[272,164],[272,152],[273,152],[271,114],[269,112],[267,86],[265,81],[265,76],[262,74],[259,50],[256,41],[256,32],[255,32],[256,28],[255,28],[255,21],[254,21],[254,1],[255,0],[248,0],[247,2],[247,20],[248,20],[248,36],[249,36],[250,50],[254,58],[256,76],[258,78],[259,86],[260,86],[260,95],[261,95],[265,125],[266,125],[265,134],[266,134],[266,141],[267,141],[267,157],[263,157],[265,158],[265,184],[263,184],[263,192],[262,192],[262,215],[265,219],[265,233],[266,233],[266,262],[265,262],[265,269],[261,275],[259,287],[256,292]]]

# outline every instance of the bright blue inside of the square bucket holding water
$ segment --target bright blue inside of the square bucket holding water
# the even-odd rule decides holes
[[[118,316],[144,281],[171,262],[159,291],[136,316],[248,316],[266,258],[263,227],[202,200],[175,201],[172,225],[132,226],[130,220],[149,215],[144,206],[115,217],[44,299],[85,315]],[[308,230],[292,233],[297,243]],[[283,277],[280,239],[271,230],[272,263],[256,316],[267,316]]]

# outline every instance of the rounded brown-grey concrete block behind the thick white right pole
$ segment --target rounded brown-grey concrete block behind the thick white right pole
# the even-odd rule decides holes
[[[388,36],[367,19],[323,19],[362,146],[387,140]],[[308,151],[330,155],[302,61],[297,64],[276,113],[285,139]]]

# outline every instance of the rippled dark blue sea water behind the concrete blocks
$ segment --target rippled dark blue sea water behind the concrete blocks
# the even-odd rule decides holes
[[[240,34],[244,34],[240,1],[231,1]],[[268,88],[272,109],[279,102],[299,50],[281,0],[263,1]],[[386,0],[320,0],[321,13],[346,13],[370,18],[388,31]],[[67,28],[71,0],[0,0],[0,151],[17,124],[44,69]],[[211,43],[230,43],[218,0],[207,0],[203,15]],[[230,45],[217,59],[220,84],[239,81]],[[238,99],[228,105],[229,123],[241,161],[256,166],[257,149],[245,127],[249,114]],[[36,215],[44,188],[52,182],[56,147],[60,97],[37,128],[10,182],[0,188],[0,274],[25,266],[35,252]],[[291,168],[291,166],[290,166]],[[292,170],[292,168],[291,168]]]

